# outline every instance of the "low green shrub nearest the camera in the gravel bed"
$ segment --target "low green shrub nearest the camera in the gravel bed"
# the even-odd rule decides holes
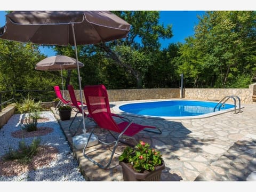
[[[40,142],[39,138],[34,138],[30,145],[26,145],[25,140],[21,140],[17,150],[10,147],[9,151],[2,158],[4,161],[17,159],[20,163],[29,163],[33,156],[37,154]]]

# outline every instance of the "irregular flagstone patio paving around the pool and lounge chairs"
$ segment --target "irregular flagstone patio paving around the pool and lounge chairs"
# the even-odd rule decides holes
[[[125,101],[127,102],[127,101]],[[110,102],[111,106],[121,102]],[[135,139],[148,142],[163,154],[166,169],[161,181],[256,181],[256,103],[243,104],[242,113],[234,111],[201,119],[169,120],[138,118],[135,123],[155,125],[162,134],[141,131]],[[55,113],[55,109],[51,108]],[[75,114],[73,114],[74,116]],[[68,131],[70,121],[58,119],[62,130],[73,148],[72,136]],[[81,120],[81,116],[79,118]],[[72,127],[78,125],[75,121]],[[86,129],[96,126],[86,120]],[[105,130],[95,128],[99,137],[111,140]],[[81,129],[77,132],[81,134]],[[73,148],[82,173],[87,181],[123,181],[118,156],[126,147],[122,143],[116,150],[109,169],[100,169],[83,157],[82,150]],[[89,149],[91,157],[101,163],[107,162],[111,148]]]

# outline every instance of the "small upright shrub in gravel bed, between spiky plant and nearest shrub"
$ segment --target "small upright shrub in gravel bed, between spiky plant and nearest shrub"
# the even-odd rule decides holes
[[[21,129],[26,130],[27,132],[37,131],[37,119],[40,116],[37,112],[28,114],[28,117],[25,117]]]

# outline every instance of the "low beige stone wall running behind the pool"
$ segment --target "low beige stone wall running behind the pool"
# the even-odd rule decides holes
[[[171,99],[180,98],[180,89],[122,89],[107,90],[109,101],[129,101],[143,99]],[[75,90],[77,100],[79,91]],[[68,91],[65,91],[67,99],[69,99]],[[194,100],[211,100],[220,101],[227,95],[237,95],[241,99],[241,103],[255,103],[252,95],[256,95],[256,83],[249,86],[248,89],[189,89],[184,90],[185,99]],[[85,102],[85,99],[83,98]],[[230,99],[228,102],[234,102]]]

